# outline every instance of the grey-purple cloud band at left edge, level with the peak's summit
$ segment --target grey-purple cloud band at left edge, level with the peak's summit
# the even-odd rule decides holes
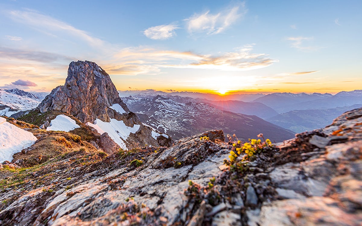
[[[57,53],[49,53],[43,51],[13,49],[0,47],[0,58],[15,58],[19,60],[31,60],[38,62],[55,62],[57,60],[71,61],[70,57],[62,56]]]

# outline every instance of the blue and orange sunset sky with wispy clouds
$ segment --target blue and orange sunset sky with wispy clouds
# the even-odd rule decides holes
[[[362,89],[362,1],[0,0],[0,89],[51,91],[71,61],[117,90]]]

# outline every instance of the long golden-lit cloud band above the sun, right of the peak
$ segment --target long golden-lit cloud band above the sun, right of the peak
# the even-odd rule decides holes
[[[114,64],[104,68],[110,74],[157,74],[161,68],[216,69],[244,71],[270,66],[278,60],[265,53],[252,53],[253,45],[245,45],[233,52],[202,55],[194,52],[160,51],[152,48],[125,48],[115,55]],[[119,62],[122,62],[119,64]]]

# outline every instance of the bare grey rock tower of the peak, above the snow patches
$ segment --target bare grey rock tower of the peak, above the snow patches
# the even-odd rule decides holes
[[[53,89],[38,109],[42,113],[55,110],[71,114],[82,122],[94,122],[96,118],[109,122],[108,111],[113,104],[129,112],[109,75],[100,66],[90,61],[73,61],[64,86]]]

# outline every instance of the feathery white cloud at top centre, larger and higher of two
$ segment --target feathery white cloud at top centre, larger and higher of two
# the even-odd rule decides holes
[[[210,11],[201,14],[194,14],[185,19],[186,29],[189,33],[206,32],[207,34],[219,34],[227,29],[237,19],[247,12],[244,3],[233,6],[230,9],[222,10],[212,14]]]

